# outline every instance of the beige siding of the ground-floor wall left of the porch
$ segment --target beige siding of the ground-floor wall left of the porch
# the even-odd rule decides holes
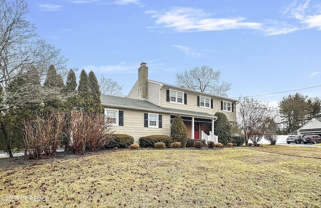
[[[107,108],[107,107],[106,107]],[[111,108],[108,108],[111,109]],[[150,135],[168,135],[171,136],[171,119],[169,114],[162,115],[162,128],[144,127],[144,113],[148,111],[135,111],[127,109],[114,109],[124,111],[124,126],[114,126],[115,134],[127,134],[134,138],[134,143],[139,143],[140,137]],[[152,113],[157,114],[157,113]]]

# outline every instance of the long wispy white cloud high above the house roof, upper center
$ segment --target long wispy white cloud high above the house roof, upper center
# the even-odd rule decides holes
[[[203,10],[193,8],[174,7],[167,12],[147,11],[153,14],[155,24],[172,28],[178,32],[190,31],[221,31],[230,29],[260,29],[261,23],[246,22],[243,17],[211,18]]]

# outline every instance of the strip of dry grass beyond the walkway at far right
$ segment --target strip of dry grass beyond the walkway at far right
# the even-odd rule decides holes
[[[236,148],[321,159],[321,148],[313,146],[311,145],[311,147],[304,147],[288,145],[262,145],[261,147],[240,146]]]

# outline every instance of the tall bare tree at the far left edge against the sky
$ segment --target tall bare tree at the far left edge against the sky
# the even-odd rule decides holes
[[[29,12],[24,0],[0,0],[0,85],[3,87],[3,100],[0,110],[7,110],[17,105],[24,105],[26,100],[35,98],[38,94],[29,93],[25,89],[33,86],[28,82],[14,92],[8,92],[10,82],[34,67],[40,80],[44,80],[49,65],[55,65],[60,74],[67,74],[64,63],[66,59],[60,55],[60,50],[39,39],[35,26],[26,19]],[[32,91],[37,91],[35,89]],[[22,95],[23,94],[23,95]],[[46,93],[44,93],[46,94]],[[21,97],[22,99],[14,99]],[[27,97],[27,98],[24,98]]]

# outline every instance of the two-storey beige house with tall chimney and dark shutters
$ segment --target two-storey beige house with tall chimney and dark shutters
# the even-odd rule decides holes
[[[105,115],[112,119],[114,130],[134,137],[135,143],[143,136],[170,136],[171,121],[176,115],[182,117],[189,138],[215,142],[216,112],[223,112],[231,125],[236,122],[238,100],[148,80],[147,77],[148,67],[142,63],[138,80],[126,98],[101,95]]]

